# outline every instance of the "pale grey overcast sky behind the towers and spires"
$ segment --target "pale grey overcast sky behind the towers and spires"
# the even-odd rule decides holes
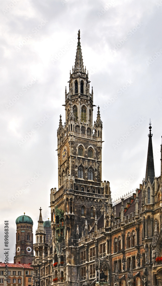
[[[78,29],[103,121],[102,180],[109,180],[113,199],[139,187],[150,118],[160,174],[161,14],[159,0],[1,1],[0,261],[5,220],[12,262],[15,219],[24,212],[33,219],[35,242],[40,206],[43,219],[50,217],[50,189],[58,188],[57,128],[60,114],[65,121]]]

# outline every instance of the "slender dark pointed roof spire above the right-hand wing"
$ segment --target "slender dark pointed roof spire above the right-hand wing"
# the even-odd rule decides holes
[[[154,170],[154,162],[153,162],[153,146],[152,146],[152,136],[151,134],[151,122],[149,123],[149,130],[150,133],[149,136],[149,146],[148,146],[148,152],[147,152],[147,165],[146,165],[146,176],[145,176],[145,183],[147,183],[148,179],[150,179],[151,184],[154,181],[155,177],[155,170]]]

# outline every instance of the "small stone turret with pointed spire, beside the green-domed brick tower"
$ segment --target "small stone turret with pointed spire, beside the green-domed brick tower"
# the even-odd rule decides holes
[[[45,254],[47,254],[48,244],[46,243],[46,233],[43,226],[43,220],[42,220],[42,213],[41,208],[40,214],[39,214],[39,220],[38,220],[38,228],[35,232],[36,236],[36,243],[34,244],[34,250],[35,250],[35,259],[39,261],[39,259],[45,258]]]

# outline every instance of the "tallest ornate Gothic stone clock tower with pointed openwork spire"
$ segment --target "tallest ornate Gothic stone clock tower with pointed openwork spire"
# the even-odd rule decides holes
[[[57,130],[59,189],[51,189],[53,262],[59,263],[63,255],[67,263],[66,275],[75,283],[78,239],[82,234],[88,235],[105,208],[112,210],[109,182],[103,182],[101,174],[102,121],[98,106],[93,123],[93,88],[90,92],[88,71],[83,66],[80,30],[69,91],[65,88],[64,106],[65,123],[60,115]]]

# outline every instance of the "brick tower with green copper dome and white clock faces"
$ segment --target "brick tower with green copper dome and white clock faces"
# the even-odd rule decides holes
[[[21,215],[16,219],[16,253],[14,261],[16,263],[32,263],[33,253],[33,221],[31,217]]]

